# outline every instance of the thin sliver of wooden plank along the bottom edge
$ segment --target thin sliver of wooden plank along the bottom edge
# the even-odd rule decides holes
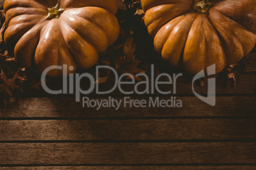
[[[0,167],[0,170],[76,170],[76,169],[87,169],[87,170],[166,170],[166,169],[176,169],[176,170],[253,170],[256,166],[32,166],[32,167]]]

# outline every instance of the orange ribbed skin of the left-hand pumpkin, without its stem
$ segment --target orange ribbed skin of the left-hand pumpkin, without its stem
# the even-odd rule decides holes
[[[46,19],[48,8],[59,2],[59,18]],[[116,0],[6,0],[8,29],[4,41],[27,68],[43,72],[52,65],[89,69],[99,52],[117,40]],[[52,70],[49,76],[62,75]]]

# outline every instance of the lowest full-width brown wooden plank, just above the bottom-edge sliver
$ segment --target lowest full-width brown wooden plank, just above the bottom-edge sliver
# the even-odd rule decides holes
[[[253,164],[256,143],[0,143],[0,164]]]

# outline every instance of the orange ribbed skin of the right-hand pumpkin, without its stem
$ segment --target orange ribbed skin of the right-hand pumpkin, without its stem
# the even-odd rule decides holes
[[[255,46],[255,0],[211,3],[208,14],[203,14],[192,10],[193,0],[141,0],[156,51],[190,74],[213,64],[218,73]]]

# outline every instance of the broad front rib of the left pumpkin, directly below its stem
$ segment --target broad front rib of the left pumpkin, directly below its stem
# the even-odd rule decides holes
[[[68,67],[73,66],[76,68],[74,58],[69,51],[62,32],[55,32],[55,30],[60,30],[59,21],[53,19],[45,20],[45,22],[46,24],[43,25],[39,35],[39,42],[34,55],[34,65],[40,72],[52,65],[67,65]],[[51,41],[51,43],[45,44],[45,41]],[[60,46],[60,48],[56,48],[56,45]],[[73,71],[68,69],[68,72]],[[62,75],[62,70],[54,69],[49,74],[57,77]]]

